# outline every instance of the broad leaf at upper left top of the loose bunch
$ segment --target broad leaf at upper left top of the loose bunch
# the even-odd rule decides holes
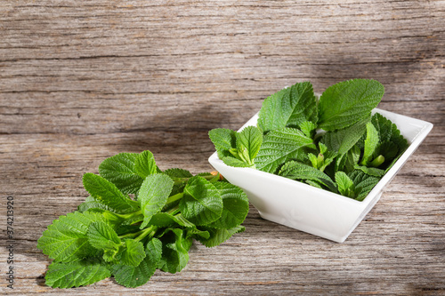
[[[119,153],[111,156],[99,165],[99,173],[122,192],[136,193],[143,181],[134,168],[138,157],[137,153]]]

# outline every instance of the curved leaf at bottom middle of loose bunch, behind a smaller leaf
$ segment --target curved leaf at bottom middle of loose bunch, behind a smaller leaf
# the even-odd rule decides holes
[[[125,285],[127,288],[135,288],[146,284],[150,280],[161,258],[161,241],[158,238],[152,238],[147,244],[145,253],[144,260],[137,267],[122,264],[113,266],[113,276],[118,284]]]

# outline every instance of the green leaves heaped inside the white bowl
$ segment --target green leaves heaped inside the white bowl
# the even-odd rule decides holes
[[[299,180],[363,200],[408,148],[395,124],[371,111],[384,95],[376,80],[334,84],[318,99],[309,82],[263,101],[257,126],[209,132],[225,164]]]

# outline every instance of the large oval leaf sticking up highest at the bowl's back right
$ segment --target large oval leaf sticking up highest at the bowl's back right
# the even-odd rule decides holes
[[[318,125],[325,131],[344,129],[369,115],[384,95],[376,80],[352,79],[329,86],[319,102]]]

